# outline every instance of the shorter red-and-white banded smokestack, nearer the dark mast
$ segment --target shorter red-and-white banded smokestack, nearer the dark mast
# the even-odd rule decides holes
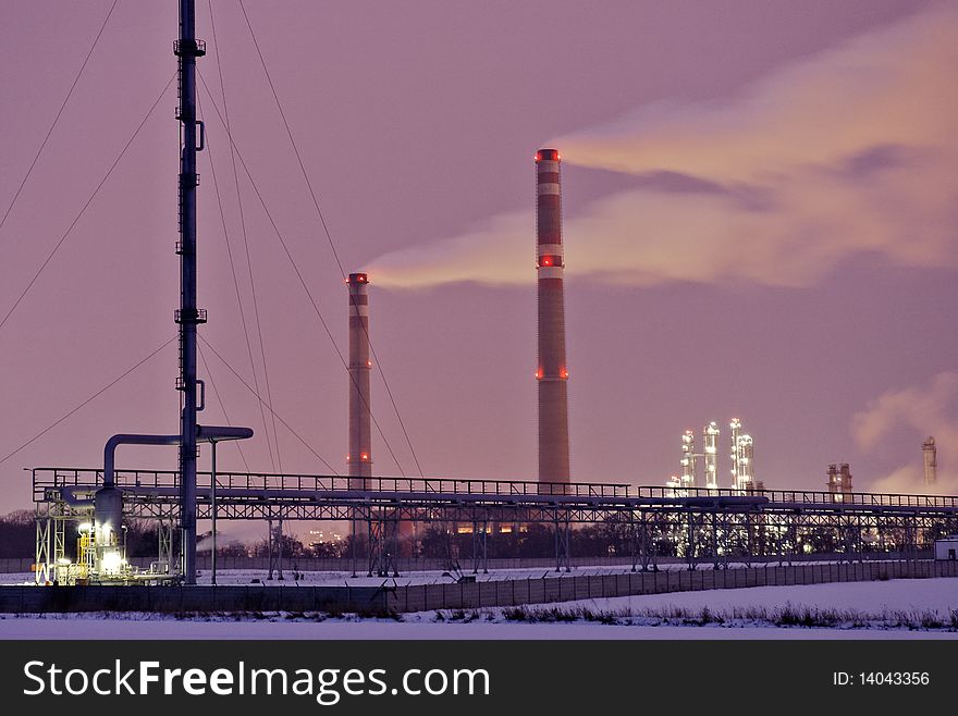
[[[371,404],[369,403],[369,277],[351,273],[349,287],[349,487],[364,490],[372,477]],[[355,478],[355,479],[353,479]]]

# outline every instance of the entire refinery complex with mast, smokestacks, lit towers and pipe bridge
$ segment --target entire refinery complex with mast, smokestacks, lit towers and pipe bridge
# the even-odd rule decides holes
[[[450,541],[467,535],[468,551],[453,554],[450,546],[445,566],[454,577],[456,570],[462,572],[458,578],[464,583],[467,572],[488,571],[490,541],[530,527],[548,529],[553,536],[549,553],[541,555],[550,570],[570,571],[576,556],[570,548],[574,531],[601,523],[625,535],[624,551],[614,556],[628,572],[647,575],[668,563],[687,571],[711,567],[716,573],[733,564],[777,564],[785,569],[808,555],[859,564],[867,556],[895,555],[925,568],[934,563],[930,558],[934,544],[958,533],[958,497],[856,492],[848,462],[823,465],[820,490],[796,491],[774,484],[760,469],[764,465],[761,441],[760,467],[756,465],[754,425],[749,424],[747,431],[747,420],[709,420],[714,413],[697,418],[708,422],[701,429],[686,430],[674,447],[662,446],[675,454],[677,474],[646,486],[577,480],[569,459],[572,379],[566,351],[562,157],[554,147],[538,149],[529,166],[535,181],[535,207],[529,213],[535,211],[536,220],[535,266],[530,260],[529,281],[536,281],[538,329],[535,478],[397,478],[378,471],[372,409],[377,396],[371,383],[374,354],[370,345],[377,308],[370,303],[370,286],[377,277],[364,271],[348,273],[342,305],[342,323],[348,330],[344,359],[346,474],[219,470],[218,446],[248,441],[254,431],[201,420],[210,396],[197,362],[199,331],[208,316],[197,299],[196,158],[205,149],[206,129],[197,112],[196,94],[197,62],[206,54],[206,45],[195,35],[193,4],[186,0],[180,3],[180,36],[173,48],[181,129],[176,243],[181,303],[174,314],[180,430],[173,434],[105,435],[102,466],[30,469],[36,510],[34,582],[38,588],[195,587],[200,571],[200,521],[211,526],[208,568],[213,583],[218,526],[223,521],[266,526],[270,577],[273,558],[282,565],[283,526],[294,522],[322,522],[323,529],[332,529],[331,523],[347,524],[346,560],[354,577],[398,577],[402,559],[415,553],[417,535],[427,527]],[[533,245],[531,236],[529,245]],[[532,376],[527,376],[531,381]],[[676,436],[683,427],[676,427]],[[761,430],[754,433],[761,439]],[[177,469],[120,467],[121,448],[130,445],[175,447]],[[209,455],[206,469],[198,466],[200,445],[209,448],[204,453]],[[937,470],[934,437],[924,441],[921,455],[924,483],[931,487]],[[149,565],[135,565],[127,558],[125,533],[131,520],[156,526],[156,556]],[[280,570],[282,575],[282,567]],[[712,579],[712,585],[717,587],[717,578]],[[658,582],[653,583],[658,589]],[[680,580],[677,583],[680,585]],[[642,584],[640,588],[647,589]],[[635,589],[632,582],[628,585]],[[511,598],[516,600],[514,592]]]

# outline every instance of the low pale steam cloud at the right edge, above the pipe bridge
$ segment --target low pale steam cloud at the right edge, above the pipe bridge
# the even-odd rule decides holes
[[[926,386],[888,391],[869,403],[852,418],[856,445],[871,450],[901,429],[910,429],[917,440],[934,435],[937,447],[937,483],[924,484],[924,471],[918,458],[887,476],[873,480],[874,492],[958,494],[958,373],[938,373]],[[916,443],[917,445],[917,443]]]

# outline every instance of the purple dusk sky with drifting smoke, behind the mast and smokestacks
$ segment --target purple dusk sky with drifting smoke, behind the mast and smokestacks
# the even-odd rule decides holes
[[[0,513],[25,467],[179,430],[175,342],[84,404],[175,335],[176,33],[172,1],[0,7]],[[536,479],[555,146],[573,480],[664,484],[714,420],[730,486],[740,418],[767,487],[958,494],[954,4],[199,0],[197,35],[201,421],[256,431],[221,469],[345,472],[367,270],[373,472]]]

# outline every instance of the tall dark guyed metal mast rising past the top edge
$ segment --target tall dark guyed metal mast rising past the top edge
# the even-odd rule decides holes
[[[173,45],[180,81],[180,530],[182,568],[187,584],[196,583],[196,326],[206,311],[196,308],[196,152],[202,150],[202,123],[196,119],[196,58],[206,44],[196,39],[194,0],[180,0],[180,39]],[[199,146],[197,147],[197,135]]]

